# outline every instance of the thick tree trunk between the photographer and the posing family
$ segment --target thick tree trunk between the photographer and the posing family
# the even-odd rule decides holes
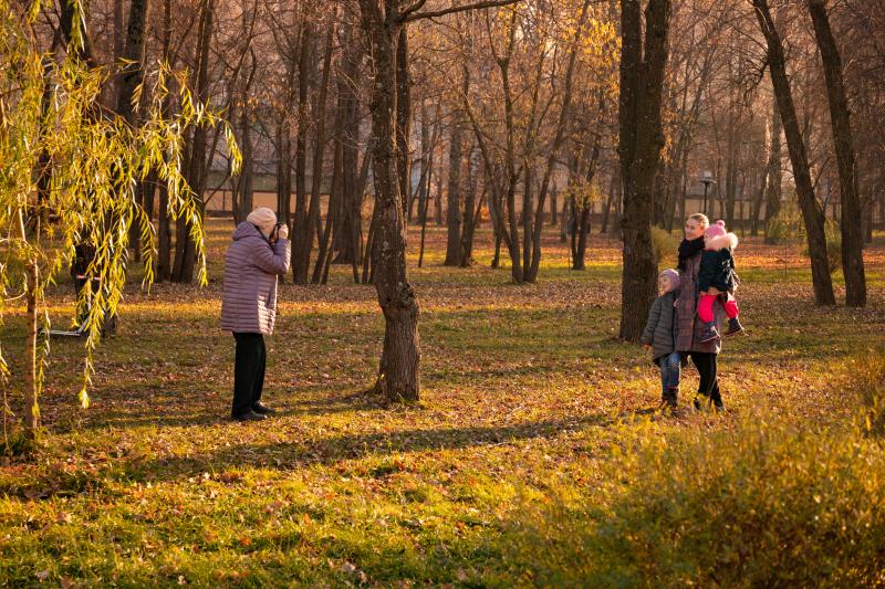
[[[372,43],[372,159],[378,234],[373,242],[374,284],[384,313],[384,348],[376,390],[392,400],[420,395],[418,301],[406,273],[405,207],[397,173],[397,40],[405,25],[397,0],[360,0],[363,24]]]

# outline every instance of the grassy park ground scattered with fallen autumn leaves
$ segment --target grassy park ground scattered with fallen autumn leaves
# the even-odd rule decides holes
[[[218,328],[231,228],[210,229],[208,287],[160,284],[147,295],[133,283],[117,335],[96,354],[90,409],[76,404],[82,343],[53,340],[45,445],[35,460],[0,463],[0,583],[545,582],[535,565],[569,538],[553,528],[517,546],[527,514],[613,502],[627,439],[737,437],[751,416],[847,428],[856,362],[885,333],[881,235],[865,254],[864,309],[812,306],[801,248],[748,239],[737,252],[748,335],[720,356],[729,411],[688,409],[689,374],[681,412],[664,417],[653,411],[655,367],[615,337],[616,241],[594,235],[587,270],[572,272],[551,235],[539,284],[514,286],[508,270],[489,267],[488,231],[477,265],[460,270],[440,265],[445,230],[431,228],[424,269],[410,239],[419,404],[364,392],[383,319],[374,288],[336,266],[327,286],[281,286],[266,382],[281,414],[231,423],[233,341]],[[63,284],[53,319],[69,322],[72,305]],[[7,393],[20,414],[23,320],[6,322]]]

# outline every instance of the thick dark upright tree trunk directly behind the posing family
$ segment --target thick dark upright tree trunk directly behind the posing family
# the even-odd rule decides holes
[[[649,0],[643,43],[639,2],[621,1],[618,156],[624,190],[621,221],[624,265],[620,335],[628,341],[639,340],[656,292],[657,260],[652,244],[653,185],[664,146],[660,107],[669,19],[669,0]]]

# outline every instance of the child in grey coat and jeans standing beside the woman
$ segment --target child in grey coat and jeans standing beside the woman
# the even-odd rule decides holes
[[[679,396],[679,365],[681,358],[676,351],[676,308],[679,273],[667,269],[657,277],[660,296],[652,303],[648,323],[643,332],[642,343],[652,350],[652,361],[660,367],[662,407],[676,409]]]

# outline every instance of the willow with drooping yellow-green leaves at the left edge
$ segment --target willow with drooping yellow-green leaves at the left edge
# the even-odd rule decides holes
[[[118,308],[126,281],[129,231],[137,228],[145,282],[153,281],[155,234],[136,199],[136,187],[154,172],[168,190],[170,218],[186,219],[205,276],[204,233],[197,199],[181,170],[184,135],[191,125],[217,125],[220,119],[191,98],[186,76],[158,65],[133,92],[136,111],[149,93],[140,124],[101,112],[98,101],[108,72],[83,60],[84,36],[71,35],[74,46],[64,55],[40,49],[31,27],[39,3],[22,18],[0,0],[0,319],[11,305],[24,306],[24,427],[33,439],[40,431],[40,390],[46,368],[50,327],[46,287],[70,266],[77,245],[94,250],[87,281],[76,304],[85,317],[85,359],[80,401],[88,404],[92,353],[106,315]],[[74,2],[73,10],[81,7]],[[82,19],[74,18],[80,23]],[[80,44],[80,45],[77,45]],[[164,102],[175,77],[174,98],[180,112],[167,116]],[[231,156],[239,154],[231,141]],[[50,221],[50,219],[52,219]],[[44,329],[38,330],[38,323]],[[0,379],[10,372],[0,349]],[[6,419],[6,418],[4,418]]]

